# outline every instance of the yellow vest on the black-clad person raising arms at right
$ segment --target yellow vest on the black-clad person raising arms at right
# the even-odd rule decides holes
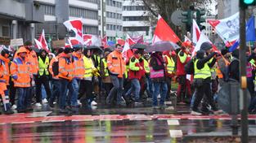
[[[196,64],[198,61],[199,59],[196,59],[194,63],[194,69],[195,69],[194,79],[206,79],[208,77],[211,77],[211,70],[208,66],[208,63],[204,63],[204,67],[201,69],[198,69],[196,67]]]

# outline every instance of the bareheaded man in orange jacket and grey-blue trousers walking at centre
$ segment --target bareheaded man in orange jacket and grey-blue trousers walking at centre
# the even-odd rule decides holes
[[[111,52],[107,57],[107,67],[110,71],[110,78],[114,87],[110,90],[108,97],[106,98],[106,103],[108,105],[113,102],[114,97],[117,94],[117,104],[119,106],[126,106],[126,103],[122,99],[123,86],[124,86],[124,73],[125,73],[125,63],[122,57],[122,46],[115,45],[115,50]]]

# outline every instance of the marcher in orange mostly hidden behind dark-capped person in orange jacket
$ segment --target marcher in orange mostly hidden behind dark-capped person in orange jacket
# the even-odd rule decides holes
[[[56,63],[59,61],[59,58],[62,55],[62,52],[63,52],[63,49],[60,48],[56,54],[56,57],[52,57],[52,60],[49,65],[49,72],[52,75],[52,96],[49,99],[49,106],[51,106],[52,108],[54,107],[53,102],[55,102],[56,98],[60,97],[60,93],[61,93],[61,85],[60,85],[59,76],[54,75],[54,73],[52,71],[52,65],[53,65],[53,63]]]

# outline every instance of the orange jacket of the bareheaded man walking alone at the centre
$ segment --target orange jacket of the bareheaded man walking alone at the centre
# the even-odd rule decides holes
[[[125,73],[125,62],[122,57],[122,53],[118,51],[111,52],[107,57],[107,66],[110,71],[110,74],[116,75],[118,77],[123,77]]]

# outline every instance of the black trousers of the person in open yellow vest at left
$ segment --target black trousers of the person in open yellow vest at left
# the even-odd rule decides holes
[[[47,93],[47,99],[49,100],[52,96],[50,84],[49,84],[49,77],[48,76],[38,76],[35,78],[35,85],[36,85],[36,100],[37,102],[42,101],[42,85]]]

